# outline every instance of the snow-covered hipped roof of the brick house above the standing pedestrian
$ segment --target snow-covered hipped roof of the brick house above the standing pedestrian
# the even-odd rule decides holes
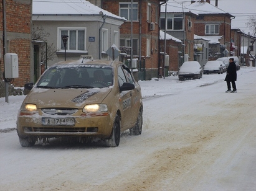
[[[208,2],[197,1],[189,4],[186,7],[197,14],[227,14],[227,12],[219,9],[219,7],[213,6]],[[233,17],[232,15],[230,16]]]

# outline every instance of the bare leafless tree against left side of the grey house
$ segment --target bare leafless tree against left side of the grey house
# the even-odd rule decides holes
[[[40,40],[45,43],[40,44],[40,62],[46,63],[46,61],[54,60],[56,56],[56,48],[54,47],[54,43],[48,43],[47,37],[50,36],[49,32],[45,32],[44,28],[36,27],[32,29],[32,39],[33,40]],[[47,45],[47,48],[45,47]],[[46,54],[47,51],[47,54]],[[47,55],[47,58],[46,58]]]

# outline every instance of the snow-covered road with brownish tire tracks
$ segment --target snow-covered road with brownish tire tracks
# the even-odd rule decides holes
[[[221,75],[140,82],[143,133],[118,148],[22,148],[16,131],[0,133],[0,190],[256,190],[256,69],[238,71],[237,94]]]

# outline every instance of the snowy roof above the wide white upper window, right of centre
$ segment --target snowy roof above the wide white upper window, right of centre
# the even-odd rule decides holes
[[[166,6],[165,4],[162,4],[161,6],[162,13],[165,12],[165,7],[166,7],[166,12],[179,12],[179,13],[192,12],[193,14],[196,14],[196,12],[187,9],[187,7],[184,6],[184,4],[175,2],[175,1],[168,1]]]

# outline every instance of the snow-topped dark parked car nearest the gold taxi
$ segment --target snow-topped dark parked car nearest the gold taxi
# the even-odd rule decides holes
[[[180,81],[184,79],[200,79],[202,78],[202,66],[198,61],[185,61],[178,71]]]

